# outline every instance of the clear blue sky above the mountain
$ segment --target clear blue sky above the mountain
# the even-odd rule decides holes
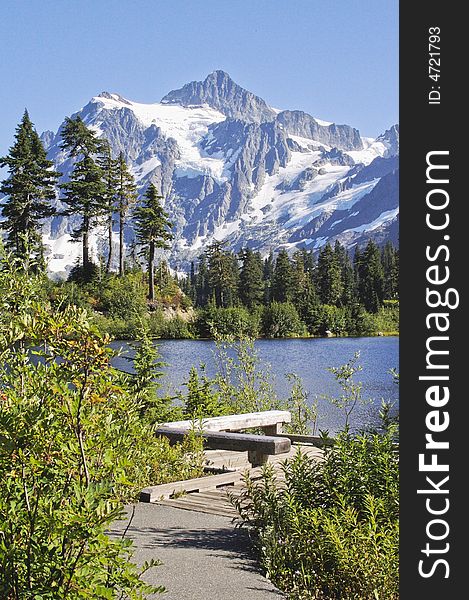
[[[215,69],[277,108],[398,121],[398,0],[2,0],[0,155],[101,91],[157,102]]]

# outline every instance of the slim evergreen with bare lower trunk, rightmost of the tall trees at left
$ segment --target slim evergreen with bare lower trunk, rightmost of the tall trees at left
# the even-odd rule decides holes
[[[143,197],[143,203],[134,211],[135,234],[138,242],[143,246],[143,254],[148,261],[148,299],[155,299],[155,250],[169,248],[168,242],[173,239],[171,233],[172,223],[167,213],[163,210],[160,200],[163,196],[150,183]]]

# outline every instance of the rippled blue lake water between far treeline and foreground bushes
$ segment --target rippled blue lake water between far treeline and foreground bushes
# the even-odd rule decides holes
[[[123,354],[114,359],[114,365],[129,370],[125,356],[133,351],[126,342],[113,342],[114,348],[122,348]],[[175,395],[185,390],[184,382],[192,366],[206,365],[209,376],[216,373],[215,344],[205,340],[164,340],[157,342],[162,360],[168,365],[162,378],[163,390]],[[369,399],[367,406],[358,407],[351,420],[352,427],[370,423],[376,416],[381,399],[399,404],[399,391],[389,374],[391,368],[399,368],[398,337],[362,338],[313,338],[286,340],[258,340],[255,342],[260,368],[271,376],[279,397],[287,397],[288,373],[296,373],[302,379],[309,394],[309,401],[318,402],[318,427],[337,432],[343,424],[343,413],[332,406],[324,395],[339,395],[340,387],[328,367],[346,363],[356,351],[360,351],[358,364],[363,367],[355,375],[355,381],[363,384],[362,397]]]

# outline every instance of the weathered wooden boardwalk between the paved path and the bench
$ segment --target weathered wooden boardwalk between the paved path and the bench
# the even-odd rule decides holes
[[[283,479],[282,461],[291,458],[298,449],[318,460],[323,454],[322,450],[315,446],[293,444],[290,452],[269,457],[268,462],[274,465],[279,481]],[[231,504],[229,496],[237,497],[243,493],[246,472],[251,480],[256,481],[261,478],[262,468],[251,468],[247,452],[207,450],[205,458],[206,466],[209,469],[224,469],[225,472],[188,482],[179,482],[180,485],[174,488],[175,493],[171,488],[175,484],[156,486],[152,488],[152,496],[149,501],[183,510],[236,518],[238,513]]]

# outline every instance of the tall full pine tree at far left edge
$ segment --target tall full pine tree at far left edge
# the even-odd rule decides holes
[[[53,163],[47,160],[27,110],[16,128],[15,143],[8,156],[0,158],[0,166],[9,173],[0,186],[7,196],[0,225],[7,232],[7,247],[21,258],[33,255],[42,261],[41,221],[55,213],[50,202],[60,173],[52,170]]]

